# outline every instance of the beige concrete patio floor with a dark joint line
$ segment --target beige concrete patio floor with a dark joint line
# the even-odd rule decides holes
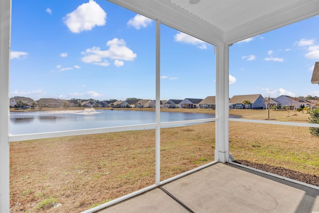
[[[99,213],[319,213],[319,190],[217,163]]]

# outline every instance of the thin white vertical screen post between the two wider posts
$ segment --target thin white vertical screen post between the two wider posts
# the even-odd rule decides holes
[[[155,183],[160,185],[160,21],[156,20]]]

